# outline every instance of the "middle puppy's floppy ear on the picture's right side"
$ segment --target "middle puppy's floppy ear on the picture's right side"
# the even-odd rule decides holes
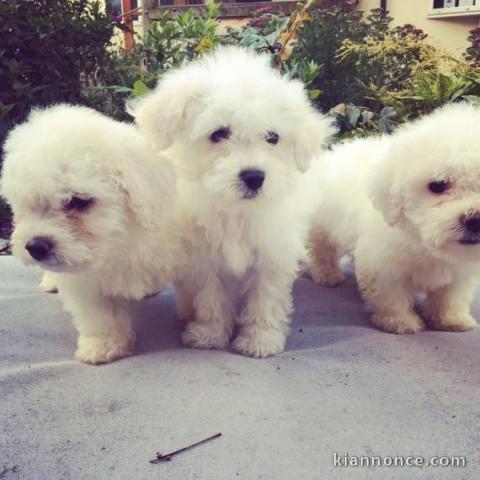
[[[311,107],[300,121],[294,155],[298,169],[305,172],[312,159],[326,147],[336,129],[332,120]]]

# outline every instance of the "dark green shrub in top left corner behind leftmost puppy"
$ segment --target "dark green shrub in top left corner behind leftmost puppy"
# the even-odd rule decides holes
[[[0,3],[0,159],[6,133],[32,107],[84,103],[83,89],[108,61],[114,27],[98,1]],[[8,222],[0,203],[0,228]]]

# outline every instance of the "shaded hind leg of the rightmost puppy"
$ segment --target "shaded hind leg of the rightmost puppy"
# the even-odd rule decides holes
[[[326,287],[334,287],[345,280],[337,248],[328,234],[319,226],[310,233],[310,274],[312,279]]]

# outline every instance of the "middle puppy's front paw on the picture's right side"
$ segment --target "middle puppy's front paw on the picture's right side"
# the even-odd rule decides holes
[[[283,352],[286,335],[278,329],[244,327],[232,347],[248,357],[265,358]]]

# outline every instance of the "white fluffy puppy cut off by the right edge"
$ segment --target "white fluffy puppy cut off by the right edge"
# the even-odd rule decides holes
[[[480,271],[480,109],[446,106],[393,136],[336,148],[319,169],[313,278],[351,254],[372,322],[392,333],[464,331]],[[422,318],[414,294],[427,294]]]

